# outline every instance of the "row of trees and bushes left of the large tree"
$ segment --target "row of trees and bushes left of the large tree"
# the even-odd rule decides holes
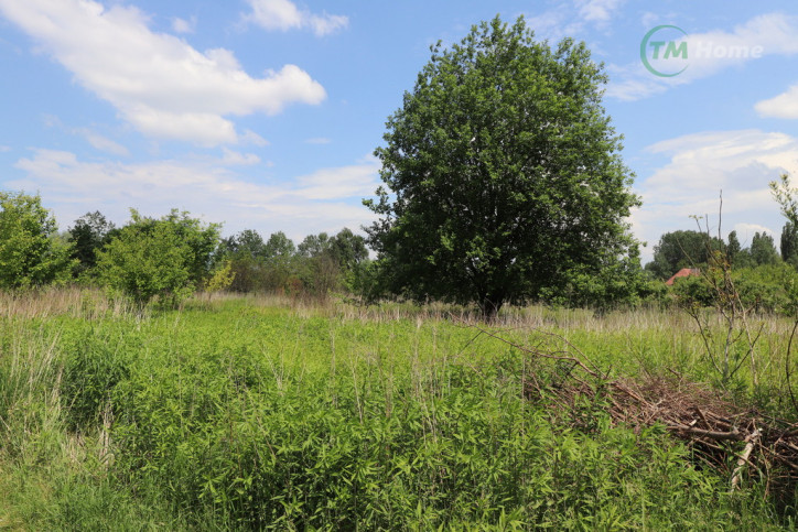
[[[311,235],[299,245],[283,232],[222,238],[222,226],[173,209],[161,218],[131,209],[116,227],[87,213],[65,232],[39,196],[0,193],[0,289],[100,285],[132,298],[176,304],[197,291],[363,294],[370,261],[349,229]]]

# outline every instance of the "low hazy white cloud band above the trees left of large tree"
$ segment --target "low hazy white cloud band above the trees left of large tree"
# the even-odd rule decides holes
[[[267,184],[245,181],[225,164],[207,159],[85,162],[69,152],[36,150],[15,164],[25,177],[2,185],[42,191],[62,227],[95,209],[122,222],[129,207],[150,216],[176,207],[209,221],[225,221],[226,234],[245,228],[267,235],[283,230],[296,239],[343,227],[356,230],[375,219],[360,205],[360,198],[371,196],[379,183],[379,162],[374,158]]]

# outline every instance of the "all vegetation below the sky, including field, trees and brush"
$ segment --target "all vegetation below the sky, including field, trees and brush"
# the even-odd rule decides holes
[[[796,528],[798,191],[780,254],[644,270],[605,82],[522,19],[433,47],[368,239],[0,193],[0,528]]]

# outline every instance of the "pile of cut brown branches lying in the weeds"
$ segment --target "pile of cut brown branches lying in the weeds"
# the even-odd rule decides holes
[[[727,473],[731,489],[742,478],[758,475],[768,490],[783,493],[798,485],[798,424],[735,404],[727,395],[679,374],[649,377],[640,382],[611,379],[564,338],[538,332],[539,343],[527,347],[499,334],[479,330],[527,356],[524,393],[560,412],[579,410],[590,400],[602,405],[614,424],[634,430],[664,425],[693,449],[693,456]],[[574,419],[579,424],[579,421]]]

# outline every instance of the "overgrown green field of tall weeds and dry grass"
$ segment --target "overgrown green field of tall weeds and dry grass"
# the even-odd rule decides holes
[[[0,529],[792,526],[791,497],[776,504],[755,468],[732,491],[661,426],[525,397],[557,366],[444,311],[0,295]],[[791,323],[763,326],[758,386],[743,366],[727,388],[789,416]],[[612,376],[716,384],[678,313],[530,307],[489,330],[567,339]]]

